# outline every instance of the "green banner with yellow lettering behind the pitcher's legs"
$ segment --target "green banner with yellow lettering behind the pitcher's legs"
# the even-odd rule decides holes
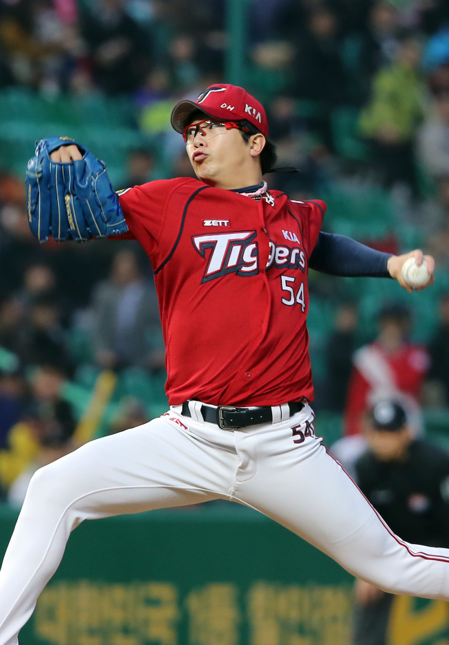
[[[15,514],[0,516],[5,549]],[[350,645],[353,579],[237,505],[86,521],[26,645]],[[398,598],[388,645],[449,645],[446,604]]]

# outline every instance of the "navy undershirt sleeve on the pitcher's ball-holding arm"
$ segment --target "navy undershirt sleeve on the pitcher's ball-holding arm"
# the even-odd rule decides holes
[[[391,253],[383,253],[344,235],[321,232],[309,259],[309,268],[343,277],[390,278]]]

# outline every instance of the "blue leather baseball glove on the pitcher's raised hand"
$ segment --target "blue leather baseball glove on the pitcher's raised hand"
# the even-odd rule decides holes
[[[61,145],[76,145],[83,158],[70,163],[50,160]],[[37,142],[26,167],[28,222],[40,242],[108,237],[126,233],[122,207],[106,173],[106,164],[68,137]]]

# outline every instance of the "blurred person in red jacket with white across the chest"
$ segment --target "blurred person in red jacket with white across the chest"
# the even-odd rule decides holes
[[[379,313],[379,335],[354,353],[354,368],[347,389],[345,434],[363,432],[367,409],[385,397],[400,400],[415,434],[422,430],[419,402],[430,367],[426,348],[408,340],[410,309],[388,303]]]

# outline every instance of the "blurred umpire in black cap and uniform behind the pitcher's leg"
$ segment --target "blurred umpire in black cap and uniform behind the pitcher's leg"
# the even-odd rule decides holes
[[[401,539],[449,546],[449,454],[414,439],[399,402],[385,400],[365,418],[367,451],[356,462],[361,491]],[[352,645],[385,645],[394,595],[356,582]]]

